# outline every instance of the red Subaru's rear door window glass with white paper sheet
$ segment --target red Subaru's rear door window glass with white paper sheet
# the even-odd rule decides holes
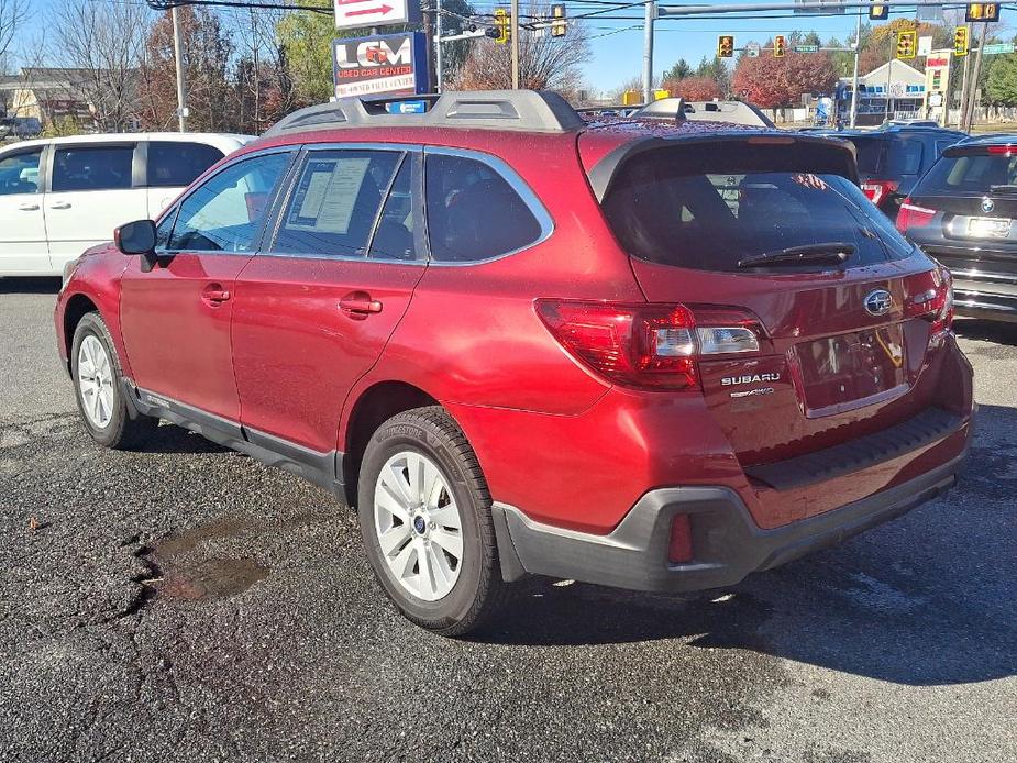
[[[310,152],[283,211],[272,252],[366,257],[382,202],[402,158],[398,151]]]

